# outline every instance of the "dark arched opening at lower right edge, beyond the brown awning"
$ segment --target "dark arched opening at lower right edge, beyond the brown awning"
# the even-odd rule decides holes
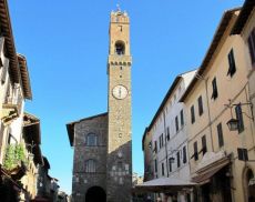
[[[255,201],[254,173],[249,168],[244,171],[244,191],[247,202]]]

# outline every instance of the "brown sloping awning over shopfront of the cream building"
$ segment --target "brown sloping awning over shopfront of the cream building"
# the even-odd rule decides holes
[[[192,178],[193,182],[196,182],[198,184],[205,184],[210,182],[210,179],[216,174],[220,170],[222,170],[224,166],[230,164],[230,160],[225,160],[218,165],[212,166],[208,170],[205,170],[204,172],[198,173],[196,176]]]

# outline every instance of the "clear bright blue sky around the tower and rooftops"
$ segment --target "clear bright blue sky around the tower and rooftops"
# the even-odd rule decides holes
[[[131,19],[133,171],[143,173],[142,134],[173,79],[197,68],[225,10],[243,0],[9,0],[17,51],[28,59],[50,174],[71,193],[65,124],[106,111],[110,12]]]

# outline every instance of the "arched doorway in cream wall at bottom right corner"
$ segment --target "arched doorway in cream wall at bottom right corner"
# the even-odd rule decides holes
[[[248,202],[251,199],[255,200],[255,184],[249,184],[249,180],[255,178],[254,171],[252,168],[246,166],[243,170],[243,189],[244,189],[244,199]]]

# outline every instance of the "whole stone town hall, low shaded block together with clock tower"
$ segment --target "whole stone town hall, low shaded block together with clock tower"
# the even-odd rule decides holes
[[[108,112],[67,124],[74,148],[72,200],[78,202],[131,200],[132,58],[126,12],[111,12],[109,33]]]

